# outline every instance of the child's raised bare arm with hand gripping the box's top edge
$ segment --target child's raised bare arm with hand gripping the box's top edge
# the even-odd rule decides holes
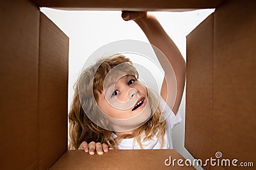
[[[177,80],[177,96],[172,111],[176,114],[179,110],[186,80],[186,62],[183,59],[179,49],[175,43],[173,43],[168,34],[166,34],[163,27],[153,14],[147,13],[146,11],[123,11],[122,18],[124,20],[134,20],[134,22],[136,22],[136,24],[138,24],[142,31],[145,33],[148,41],[150,41],[152,45],[159,48],[159,50],[161,50],[164,55],[166,55],[167,59],[172,64],[173,71]],[[159,60],[159,62],[161,63],[161,60]],[[162,64],[163,63],[161,63],[161,65]],[[166,76],[168,76],[168,74],[165,74],[165,77]],[[171,104],[170,101],[168,101],[167,92],[167,83],[166,79],[164,78],[161,88],[161,96],[165,101],[167,99],[166,103],[170,106]]]

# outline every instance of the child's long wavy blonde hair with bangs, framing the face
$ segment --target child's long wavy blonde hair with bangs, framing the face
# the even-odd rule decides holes
[[[124,70],[129,70],[129,73],[132,71],[136,80],[138,80],[138,71],[132,65],[131,60],[120,54],[112,55],[106,59],[100,59],[96,64],[88,67],[80,74],[79,79],[74,85],[74,97],[70,112],[68,113],[68,140],[70,142],[68,149],[78,149],[83,141],[88,143],[91,141],[106,143],[109,147],[118,149],[118,142],[125,138],[136,139],[142,149],[141,137],[143,135],[145,135],[143,140],[152,139],[157,135],[157,138],[161,141],[161,148],[163,147],[166,121],[159,122],[161,110],[159,109],[156,96],[147,88],[150,108],[155,113],[152,113],[152,117],[148,119],[145,124],[134,129],[132,134],[123,134],[113,138],[113,136],[111,136],[112,131],[103,129],[94,124],[92,120],[88,118],[88,115],[86,115],[86,112],[90,112],[92,113],[92,117],[98,118],[99,114],[97,113],[97,103],[95,101],[99,100],[99,93],[103,91],[104,78],[113,67],[125,62],[129,64],[126,65],[127,67],[124,67]],[[79,85],[78,81],[83,82],[83,85],[81,85],[81,83]],[[100,117],[97,120],[101,122],[104,121],[102,118],[100,119]],[[108,122],[103,124],[108,124]]]

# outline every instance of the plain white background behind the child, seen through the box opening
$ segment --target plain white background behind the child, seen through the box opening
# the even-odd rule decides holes
[[[121,11],[63,11],[51,8],[41,8],[41,11],[51,18],[70,39],[68,110],[74,94],[72,88],[79,72],[86,59],[97,48],[122,39],[136,39],[148,43],[147,37],[138,25],[133,21],[122,20]],[[213,11],[214,9],[207,9],[186,12],[154,12],[154,14],[186,60],[186,36]],[[182,123],[173,129],[173,146],[186,159],[193,160],[193,157],[184,148],[185,96],[186,90],[184,90],[179,108]]]

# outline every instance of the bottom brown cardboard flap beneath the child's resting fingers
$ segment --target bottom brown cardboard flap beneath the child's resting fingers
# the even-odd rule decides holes
[[[170,159],[170,156],[172,159]],[[191,166],[165,166],[166,159],[184,158],[175,150],[110,150],[104,155],[89,155],[83,150],[68,150],[51,170],[68,169],[195,169]],[[168,162],[166,162],[168,164]]]

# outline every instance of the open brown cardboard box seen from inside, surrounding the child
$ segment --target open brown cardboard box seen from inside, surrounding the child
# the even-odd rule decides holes
[[[185,147],[195,159],[215,158],[219,151],[223,158],[255,166],[255,1],[2,0],[0,4],[0,169],[188,168],[164,165],[170,156],[182,158],[175,150],[113,150],[93,156],[67,150],[68,37],[40,13],[40,6],[216,8],[187,37]]]

